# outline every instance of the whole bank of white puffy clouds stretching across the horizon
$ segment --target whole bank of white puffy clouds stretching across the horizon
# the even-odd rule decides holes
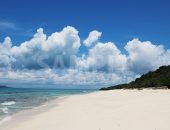
[[[81,43],[71,26],[47,36],[37,29],[29,41],[14,46],[10,37],[0,43],[1,82],[114,85],[170,64],[170,50],[150,41],[132,39],[126,54],[113,42],[101,42],[92,31]],[[80,52],[84,44],[88,53]]]

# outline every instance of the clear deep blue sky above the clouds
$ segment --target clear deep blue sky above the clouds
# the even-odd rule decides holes
[[[70,25],[82,38],[91,30],[102,31],[102,40],[114,41],[120,48],[136,37],[169,48],[169,15],[168,0],[5,0],[0,4],[0,21],[16,28],[0,29],[0,39],[8,35],[19,44],[39,27],[51,34]]]

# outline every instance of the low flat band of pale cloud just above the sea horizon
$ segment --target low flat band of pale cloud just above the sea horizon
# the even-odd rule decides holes
[[[80,71],[77,69],[66,70],[18,70],[0,73],[1,80],[7,83],[27,83],[27,84],[60,84],[60,85],[113,85],[132,80],[133,75],[122,77],[117,73],[107,73],[98,71]],[[2,81],[3,81],[2,80]],[[1,82],[2,83],[2,82]]]

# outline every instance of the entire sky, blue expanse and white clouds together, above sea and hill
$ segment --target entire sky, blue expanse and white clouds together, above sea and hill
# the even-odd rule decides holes
[[[1,1],[0,83],[130,82],[170,64],[169,16],[168,0]]]

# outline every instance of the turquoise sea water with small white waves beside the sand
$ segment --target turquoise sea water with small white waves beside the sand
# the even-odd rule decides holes
[[[31,109],[35,106],[56,99],[57,97],[89,93],[94,90],[84,89],[35,89],[35,88],[1,88],[0,89],[0,119],[12,114]]]

